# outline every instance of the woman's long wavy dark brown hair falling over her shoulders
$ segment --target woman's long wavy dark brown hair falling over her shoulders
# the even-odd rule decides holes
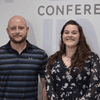
[[[61,30],[61,41],[60,41],[60,50],[57,51],[55,54],[51,55],[48,58],[48,73],[51,73],[51,66],[53,64],[53,62],[55,62],[56,60],[58,60],[63,54],[66,54],[66,46],[63,43],[63,39],[62,39],[62,35],[64,32],[64,29],[67,25],[76,25],[78,27],[78,31],[80,33],[80,38],[79,38],[79,43],[77,45],[77,49],[76,52],[74,53],[74,55],[71,58],[71,67],[70,67],[70,73],[73,73],[73,68],[74,66],[80,69],[80,72],[82,71],[82,66],[85,65],[86,60],[88,60],[89,56],[90,56],[90,47],[89,45],[86,43],[86,39],[85,36],[83,34],[83,30],[82,27],[74,20],[69,20],[67,23],[65,23],[65,25],[63,26],[62,30]]]

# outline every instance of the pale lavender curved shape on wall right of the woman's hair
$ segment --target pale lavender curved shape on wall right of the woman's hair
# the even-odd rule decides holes
[[[89,44],[91,51],[97,53],[100,57],[99,43],[97,40],[95,29],[91,22],[87,19],[77,19],[76,21],[82,26],[86,41]]]

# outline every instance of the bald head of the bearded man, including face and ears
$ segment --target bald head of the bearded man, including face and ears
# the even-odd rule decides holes
[[[23,43],[26,41],[29,27],[23,17],[16,15],[9,20],[6,30],[11,42]]]

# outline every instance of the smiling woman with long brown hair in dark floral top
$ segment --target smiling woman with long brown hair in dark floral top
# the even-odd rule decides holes
[[[100,100],[100,59],[91,52],[81,26],[69,20],[62,28],[60,50],[45,71],[49,100]]]

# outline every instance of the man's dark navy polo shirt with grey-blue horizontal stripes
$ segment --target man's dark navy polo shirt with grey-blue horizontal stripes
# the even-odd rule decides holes
[[[38,75],[44,78],[47,54],[27,41],[19,54],[10,41],[0,47],[0,100],[38,100]]]

